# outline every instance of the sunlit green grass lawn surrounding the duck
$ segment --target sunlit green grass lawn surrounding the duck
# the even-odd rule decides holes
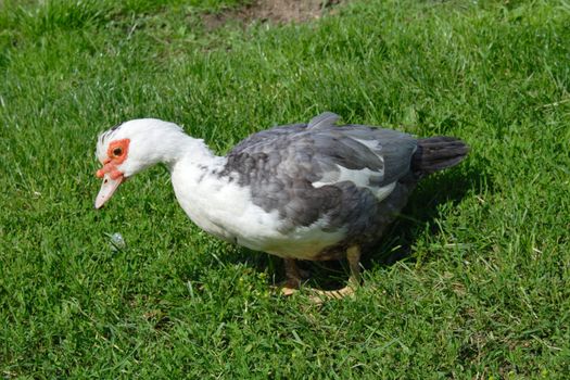
[[[0,376],[566,377],[570,3],[202,25],[239,3],[0,3]],[[354,299],[273,294],[279,261],[200,231],[163,167],[93,210],[97,134],[121,121],[173,121],[223,153],[325,110],[471,145],[418,189]],[[312,286],[347,277],[309,268]]]

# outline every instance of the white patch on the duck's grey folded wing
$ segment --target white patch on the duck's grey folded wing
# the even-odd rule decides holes
[[[337,167],[339,168],[339,172],[329,172],[325,174],[320,180],[313,182],[313,187],[321,188],[327,185],[351,181],[358,188],[366,188],[370,190],[379,202],[390,195],[390,193],[396,187],[396,182],[392,182],[382,187],[370,185],[370,178],[382,177],[384,175],[383,170],[375,172],[367,167],[364,169],[354,170],[347,169],[341,165],[337,165]]]

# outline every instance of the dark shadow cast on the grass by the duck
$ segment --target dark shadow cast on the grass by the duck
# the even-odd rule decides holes
[[[360,262],[364,270],[377,264],[390,266],[403,259],[415,262],[413,246],[418,237],[426,230],[432,235],[439,233],[435,221],[440,215],[439,205],[454,207],[470,191],[477,194],[481,189],[492,190],[490,176],[485,175],[484,167],[486,166],[470,165],[461,170],[446,170],[420,181],[402,215],[388,227],[380,243],[372,251],[364,253]],[[255,270],[267,270],[274,284],[284,280],[283,261],[277,256],[241,249],[240,254],[232,256],[231,261]],[[324,290],[344,287],[350,273],[345,261],[307,261],[299,262],[299,266],[311,273],[311,287]]]

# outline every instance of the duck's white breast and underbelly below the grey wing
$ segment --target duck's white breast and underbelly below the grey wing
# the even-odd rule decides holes
[[[341,241],[345,232],[325,231],[327,218],[282,233],[277,210],[266,212],[252,201],[248,187],[231,176],[218,176],[211,167],[175,165],[172,181],[186,214],[205,231],[256,251],[282,257],[306,258]]]

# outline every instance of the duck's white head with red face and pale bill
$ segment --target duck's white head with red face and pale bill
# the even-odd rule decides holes
[[[100,208],[127,178],[159,162],[176,159],[182,128],[155,118],[140,118],[117,125],[97,141],[97,159],[103,167],[97,177],[103,179],[94,206]]]

